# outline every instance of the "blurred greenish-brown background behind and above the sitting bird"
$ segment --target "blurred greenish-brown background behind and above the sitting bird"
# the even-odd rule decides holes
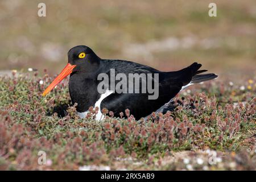
[[[38,3],[46,3],[46,17]],[[217,17],[209,17],[209,3]],[[73,46],[105,59],[174,71],[199,61],[220,78],[253,77],[256,2],[245,1],[0,1],[0,72],[59,73]]]

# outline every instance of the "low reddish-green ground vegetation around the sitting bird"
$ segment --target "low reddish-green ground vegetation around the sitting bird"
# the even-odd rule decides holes
[[[77,116],[68,80],[42,97],[51,81],[0,77],[0,169],[256,169],[255,79],[193,86],[148,121],[104,109],[102,122]]]

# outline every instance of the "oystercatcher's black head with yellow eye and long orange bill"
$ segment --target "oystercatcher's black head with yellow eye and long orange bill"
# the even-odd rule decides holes
[[[76,46],[68,51],[68,64],[63,71],[52,81],[52,83],[43,92],[46,96],[61,80],[71,73],[89,73],[94,72],[100,64],[100,58],[87,46]]]

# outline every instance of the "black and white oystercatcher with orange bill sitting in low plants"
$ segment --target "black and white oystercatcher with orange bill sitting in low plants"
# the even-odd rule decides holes
[[[119,116],[120,112],[129,109],[130,113],[133,114],[135,118],[140,119],[141,117],[147,117],[147,115],[150,115],[153,111],[160,111],[177,93],[187,86],[212,80],[217,77],[214,73],[199,75],[207,71],[199,70],[200,67],[201,64],[193,63],[180,71],[161,72],[157,69],[131,61],[101,59],[89,47],[76,46],[68,51],[68,64],[44,91],[43,96],[55,88],[63,78],[71,75],[69,79],[69,94],[73,104],[77,103],[77,111],[81,118],[86,116],[90,106],[98,106],[99,113],[96,118],[98,120],[101,119],[100,111],[103,108],[113,111],[116,117]],[[157,75],[158,90],[156,91],[158,92],[158,97],[149,99],[152,92],[145,92],[147,89],[144,89],[143,86],[148,87],[142,84],[142,77],[139,77],[139,85],[132,84],[134,90],[137,89],[137,92],[127,91],[120,93],[117,90],[113,90],[112,86],[109,86],[105,89],[104,93],[99,93],[98,85],[102,81],[98,80],[98,75],[105,73],[111,80],[111,72],[113,70],[115,76],[117,76],[118,73],[122,73],[122,76],[127,76],[127,78],[129,78],[129,74],[135,75],[135,73],[138,73],[135,76],[141,76],[142,74]],[[119,77],[119,79],[114,81],[114,84],[118,84],[120,80],[121,78]],[[152,80],[154,81],[154,78],[152,78]],[[130,80],[128,82],[130,82]],[[123,86],[124,85],[122,85],[120,89],[124,89],[122,88]],[[129,86],[128,83],[127,86]],[[138,86],[142,88],[138,88]]]

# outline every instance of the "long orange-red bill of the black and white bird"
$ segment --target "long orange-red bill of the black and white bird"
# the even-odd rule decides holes
[[[65,77],[67,77],[68,75],[70,75],[73,71],[73,69],[76,67],[76,65],[72,65],[72,64],[67,64],[65,66],[65,68],[63,69],[63,71],[60,72],[60,75],[58,75],[53,81],[52,83],[47,87],[46,90],[44,90],[42,96],[46,96],[47,93],[49,93],[53,88],[55,88],[55,86],[57,84],[59,84],[59,82],[61,82],[61,80],[63,80]]]

